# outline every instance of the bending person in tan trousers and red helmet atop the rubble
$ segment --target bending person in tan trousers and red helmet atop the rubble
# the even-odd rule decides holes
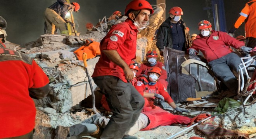
[[[68,10],[78,12],[79,9],[80,5],[78,3],[72,2],[69,4],[66,0],[57,0],[57,2],[46,8],[44,16],[45,34],[54,34],[55,29],[52,29],[52,26],[55,25],[61,31],[61,34],[69,35],[67,23],[73,23],[66,20],[65,16]]]

